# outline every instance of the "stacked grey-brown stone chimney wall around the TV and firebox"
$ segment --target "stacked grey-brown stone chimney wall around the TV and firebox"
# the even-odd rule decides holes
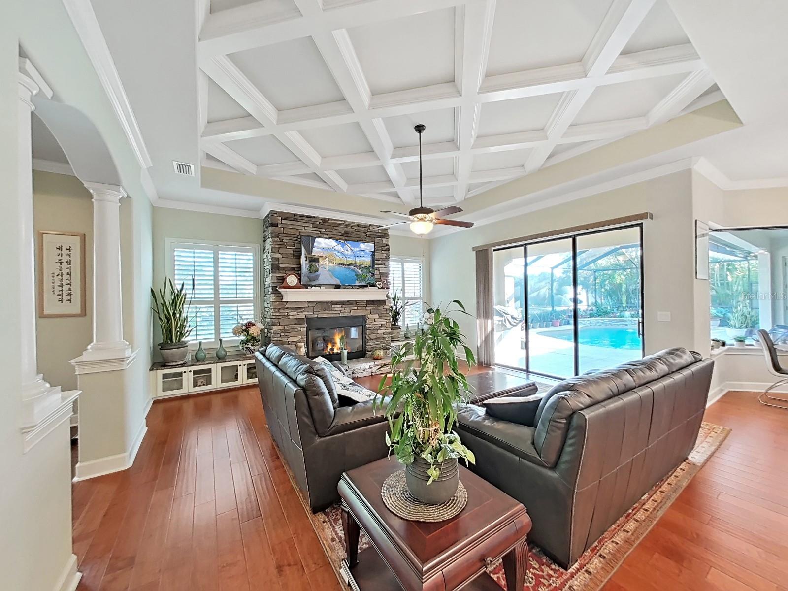
[[[351,351],[348,358],[364,357],[375,349],[382,349],[388,353],[391,346],[391,328],[388,303],[385,299],[364,299],[365,290],[355,289],[350,291],[354,294],[359,293],[359,299],[348,300],[347,297],[337,297],[334,300],[327,296],[328,301],[284,301],[277,288],[284,280],[285,273],[296,273],[299,277],[301,275],[302,236],[326,236],[336,240],[374,242],[375,280],[388,279],[388,230],[378,230],[374,225],[354,221],[338,221],[326,217],[272,211],[263,219],[262,248],[262,272],[265,277],[263,320],[269,328],[269,340],[277,344],[303,343],[307,348],[307,355],[314,356],[315,351],[309,350],[307,323],[311,326],[314,325],[314,321],[319,321],[321,329],[351,329],[352,327],[336,322],[339,318],[362,317],[364,319],[362,355],[359,355],[359,351]],[[303,291],[306,290],[299,290],[299,292]],[[320,290],[321,294],[333,291],[348,296],[347,289]],[[320,336],[325,348],[325,344],[331,341],[329,337],[333,337],[333,332],[329,337],[322,334]],[[353,337],[353,339],[357,338],[357,336]],[[350,340],[347,334],[345,339],[346,342]],[[327,356],[325,352],[322,355]],[[328,355],[336,355],[336,359],[333,357],[329,359],[340,359],[338,353]]]

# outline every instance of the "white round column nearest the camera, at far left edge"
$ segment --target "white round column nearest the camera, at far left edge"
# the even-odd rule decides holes
[[[18,121],[19,166],[19,255],[20,290],[19,314],[22,325],[20,334],[20,362],[22,374],[22,400],[24,404],[22,426],[28,428],[40,422],[61,402],[60,388],[51,387],[38,371],[35,351],[35,243],[33,232],[33,154],[31,116],[35,108],[33,95],[42,91],[51,96],[38,72],[26,59],[20,59]],[[10,287],[10,286],[9,286]]]

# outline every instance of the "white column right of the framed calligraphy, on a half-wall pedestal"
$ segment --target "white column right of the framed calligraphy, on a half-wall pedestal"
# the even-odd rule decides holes
[[[119,359],[131,355],[123,340],[121,300],[122,187],[85,183],[93,195],[93,342],[84,360]]]

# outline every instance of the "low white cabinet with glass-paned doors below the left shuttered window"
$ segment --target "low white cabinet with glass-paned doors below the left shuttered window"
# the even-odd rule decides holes
[[[167,368],[157,363],[151,367],[151,376],[154,397],[158,398],[256,383],[257,368],[255,359],[248,357],[177,368]]]

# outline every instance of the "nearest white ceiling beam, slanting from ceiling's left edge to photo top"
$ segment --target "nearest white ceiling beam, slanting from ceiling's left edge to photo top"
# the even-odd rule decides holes
[[[200,33],[201,59],[309,37],[320,31],[361,27],[464,4],[469,0],[367,0],[315,13],[307,9],[274,12],[271,2],[211,14]]]

